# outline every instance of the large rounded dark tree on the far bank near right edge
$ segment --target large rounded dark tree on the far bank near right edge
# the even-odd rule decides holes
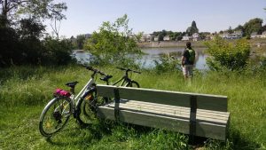
[[[262,19],[255,18],[244,24],[246,36],[250,36],[253,32],[258,32],[260,28],[262,28]]]

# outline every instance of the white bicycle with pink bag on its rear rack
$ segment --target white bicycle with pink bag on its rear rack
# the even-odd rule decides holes
[[[54,98],[44,107],[39,122],[39,130],[44,137],[51,137],[61,130],[71,114],[74,114],[74,118],[81,124],[89,124],[92,117],[95,117],[97,91],[94,78],[97,74],[106,74],[93,67],[83,67],[92,71],[93,74],[82,91],[75,96],[74,87],[78,82],[66,83],[66,86],[70,87],[70,91],[57,89],[53,93]]]

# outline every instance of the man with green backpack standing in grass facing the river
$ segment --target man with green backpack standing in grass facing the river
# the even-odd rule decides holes
[[[195,64],[195,51],[192,49],[192,43],[190,42],[186,43],[186,48],[182,52],[181,64],[183,67],[184,79],[192,77]]]

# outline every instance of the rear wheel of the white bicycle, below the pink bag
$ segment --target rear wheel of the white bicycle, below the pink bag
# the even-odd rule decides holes
[[[72,114],[69,98],[54,98],[44,107],[40,116],[39,130],[43,137],[51,137],[61,130]]]

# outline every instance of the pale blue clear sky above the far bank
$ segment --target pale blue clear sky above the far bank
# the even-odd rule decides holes
[[[219,32],[260,18],[266,24],[266,0],[55,0],[66,2],[59,35],[77,36],[98,31],[104,21],[128,15],[133,33],[171,30],[184,32],[195,20],[200,32]],[[51,21],[46,21],[51,33]]]

